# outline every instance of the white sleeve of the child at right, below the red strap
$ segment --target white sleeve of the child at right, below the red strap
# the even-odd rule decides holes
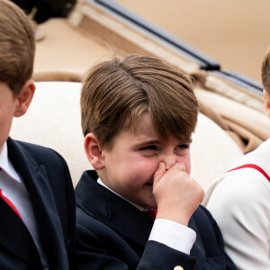
[[[230,172],[211,193],[207,208],[238,269],[270,269],[269,191],[266,178],[246,168]]]

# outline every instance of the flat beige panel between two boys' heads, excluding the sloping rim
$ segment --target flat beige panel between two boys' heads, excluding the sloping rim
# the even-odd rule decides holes
[[[72,26],[66,19],[50,19],[40,24],[39,30],[44,32],[44,39],[36,46],[36,81],[78,81],[93,63],[109,54],[109,49],[94,35]]]

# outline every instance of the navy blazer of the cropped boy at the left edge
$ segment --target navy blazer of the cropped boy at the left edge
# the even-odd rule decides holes
[[[76,269],[75,197],[65,160],[10,138],[7,150],[29,193],[49,269]],[[0,269],[43,269],[29,230],[2,198],[0,220]]]

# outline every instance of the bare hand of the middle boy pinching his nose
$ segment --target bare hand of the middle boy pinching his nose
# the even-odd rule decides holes
[[[183,163],[175,163],[166,171],[163,162],[154,175],[153,194],[157,202],[157,219],[173,220],[184,226],[204,196],[202,186],[185,173]]]

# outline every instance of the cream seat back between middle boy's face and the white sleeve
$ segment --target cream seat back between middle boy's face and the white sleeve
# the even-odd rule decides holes
[[[242,156],[236,142],[214,121],[199,113],[191,146],[193,178],[206,189]]]

